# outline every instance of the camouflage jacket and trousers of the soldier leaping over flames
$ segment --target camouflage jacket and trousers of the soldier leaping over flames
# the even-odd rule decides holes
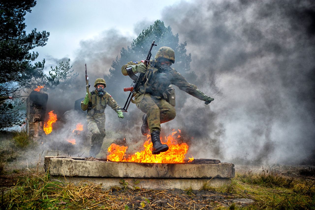
[[[122,73],[128,75],[126,70],[127,66],[136,65],[140,62],[141,61],[131,61],[127,63],[122,67]],[[143,84],[140,86],[140,90],[135,94],[135,101],[138,101],[143,97],[144,90],[146,92],[143,99],[140,102],[136,102],[136,106],[147,114],[150,132],[160,131],[161,123],[173,120],[176,116],[175,108],[166,102],[163,97],[163,93],[169,85],[176,85],[180,90],[200,100],[204,100],[207,97],[203,93],[200,93],[200,91],[196,91],[198,90],[197,86],[188,83],[174,68],[166,72],[166,79],[159,79],[159,73],[159,68],[148,66],[148,70],[142,82]]]

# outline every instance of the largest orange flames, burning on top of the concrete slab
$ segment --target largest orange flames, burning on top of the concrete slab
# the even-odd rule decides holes
[[[180,130],[178,130],[180,132]],[[145,147],[141,152],[136,152],[134,155],[129,155],[126,158],[125,152],[128,147],[119,146],[112,143],[107,149],[110,153],[107,155],[107,160],[122,161],[122,162],[138,162],[138,163],[184,163],[185,155],[188,151],[188,145],[186,143],[179,144],[175,134],[177,131],[173,131],[171,135],[165,137],[166,144],[169,146],[169,150],[159,155],[152,155],[152,142],[150,141],[150,135],[147,135],[147,141],[143,144]],[[178,135],[180,137],[180,135]],[[161,141],[162,142],[162,141]],[[164,143],[164,142],[162,142]],[[188,162],[191,162],[194,158],[189,158]]]

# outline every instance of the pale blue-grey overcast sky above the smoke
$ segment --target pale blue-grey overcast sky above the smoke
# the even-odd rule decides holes
[[[50,32],[47,45],[34,49],[39,53],[38,60],[50,56],[73,60],[80,41],[93,39],[109,29],[132,40],[139,33],[134,30],[137,24],[152,24],[161,19],[165,9],[177,3],[180,0],[159,0],[158,4],[144,0],[39,0],[25,16],[26,31],[37,28]]]

